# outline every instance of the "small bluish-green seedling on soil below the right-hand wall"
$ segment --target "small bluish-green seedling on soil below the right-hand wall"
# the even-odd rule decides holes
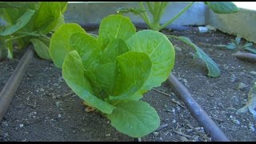
[[[254,49],[252,46],[254,44],[252,42],[246,42],[245,44],[241,43],[241,38],[235,38],[231,39],[231,42],[227,45],[214,45],[214,46],[222,46],[229,50],[248,50],[254,54],[256,54],[256,49]]]

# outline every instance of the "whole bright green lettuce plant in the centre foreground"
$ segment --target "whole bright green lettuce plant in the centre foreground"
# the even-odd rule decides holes
[[[136,28],[120,14],[102,19],[98,36],[75,23],[50,40],[50,57],[70,88],[123,134],[139,138],[160,125],[156,110],[140,101],[160,86],[174,67],[174,46],[166,35]]]

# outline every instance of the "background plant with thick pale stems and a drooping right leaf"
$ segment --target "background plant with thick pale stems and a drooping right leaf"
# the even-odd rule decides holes
[[[190,2],[183,10],[181,10],[174,18],[171,18],[169,21],[160,24],[160,20],[162,15],[166,10],[166,6],[168,2],[146,2],[147,9],[145,8],[142,2],[139,2],[139,8],[119,8],[117,10],[118,14],[124,13],[134,13],[138,14],[146,25],[150,27],[151,30],[162,30],[169,26],[174,20],[179,18],[186,10],[193,5],[194,2]],[[234,5],[233,2],[204,2],[206,6],[208,6],[211,10],[218,14],[230,14],[238,11],[238,7]],[[150,14],[150,17],[149,17]],[[151,18],[151,21],[150,21]],[[192,46],[193,50],[196,52],[195,58],[200,58],[203,62],[206,63],[206,66],[209,70],[208,76],[210,77],[218,77],[220,75],[220,70],[218,65],[206,54],[203,50],[196,46],[193,42],[190,41],[189,38],[186,37],[177,37],[174,35],[167,35],[168,38],[178,38],[182,42],[185,42],[189,46]]]

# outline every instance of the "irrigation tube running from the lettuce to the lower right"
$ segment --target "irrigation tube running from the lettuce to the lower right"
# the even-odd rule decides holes
[[[205,110],[192,98],[190,92],[186,89],[182,82],[179,82],[175,78],[174,74],[170,74],[167,82],[174,90],[175,94],[185,102],[187,108],[190,110],[192,116],[196,121],[204,128],[207,134],[213,141],[217,142],[230,142],[226,135],[220,130],[220,128],[214,123]]]

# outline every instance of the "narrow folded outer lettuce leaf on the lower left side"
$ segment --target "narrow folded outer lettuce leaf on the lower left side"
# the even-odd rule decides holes
[[[62,76],[74,93],[78,94],[88,105],[97,108],[102,111],[102,113],[112,113],[114,106],[94,96],[90,82],[84,77],[82,59],[76,50],[66,55],[62,66]]]

